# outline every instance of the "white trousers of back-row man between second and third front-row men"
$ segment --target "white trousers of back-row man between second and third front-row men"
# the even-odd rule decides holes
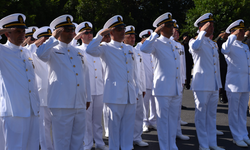
[[[105,145],[102,139],[103,95],[92,95],[92,100],[88,110],[86,110],[84,149],[92,148],[93,139],[95,140],[95,147],[103,147]]]

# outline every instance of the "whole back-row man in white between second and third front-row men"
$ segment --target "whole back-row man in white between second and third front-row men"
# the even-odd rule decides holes
[[[76,27],[74,43],[82,40],[78,46],[87,58],[89,68],[92,103],[86,111],[86,130],[84,136],[84,150],[90,150],[95,141],[96,150],[108,150],[102,139],[102,109],[103,109],[103,69],[101,59],[86,53],[86,48],[93,39],[93,25],[89,21],[80,23]],[[74,44],[76,45],[76,44]]]

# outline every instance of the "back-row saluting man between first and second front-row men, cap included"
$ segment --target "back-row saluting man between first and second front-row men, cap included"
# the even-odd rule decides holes
[[[40,116],[39,116],[39,140],[41,149],[54,150],[50,131],[52,128],[51,113],[47,105],[48,83],[49,83],[49,67],[48,64],[40,60],[36,55],[37,48],[43,44],[52,35],[52,30],[49,26],[37,28],[33,33],[33,38],[36,39],[34,44],[29,45],[28,49],[33,54],[36,81],[40,98]],[[29,42],[28,42],[29,43]]]

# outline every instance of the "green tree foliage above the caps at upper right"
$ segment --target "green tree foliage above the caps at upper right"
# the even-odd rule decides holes
[[[195,7],[187,12],[186,25],[181,30],[194,35],[198,28],[194,22],[205,13],[212,13],[215,20],[214,36],[219,34],[221,29],[227,28],[232,22],[243,19],[245,25],[250,23],[250,1],[249,0],[193,0]]]

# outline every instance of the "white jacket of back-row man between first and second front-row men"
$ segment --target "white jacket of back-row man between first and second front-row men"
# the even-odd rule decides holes
[[[48,106],[47,105],[47,97],[48,97],[48,83],[49,83],[49,66],[47,63],[43,62],[36,55],[37,46],[36,44],[31,44],[27,48],[33,54],[34,64],[36,66],[35,74],[37,81],[38,94],[40,98],[40,106]]]

